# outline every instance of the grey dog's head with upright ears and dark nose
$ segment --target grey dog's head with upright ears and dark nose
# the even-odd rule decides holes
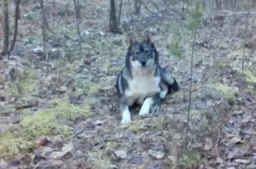
[[[128,43],[129,47],[126,59],[131,67],[152,67],[157,64],[156,51],[149,31],[144,32],[142,41],[137,40],[133,32],[128,33]]]

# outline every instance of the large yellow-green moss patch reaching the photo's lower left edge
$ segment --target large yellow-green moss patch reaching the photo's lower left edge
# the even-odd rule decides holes
[[[60,125],[55,114],[42,110],[25,116],[20,124],[11,125],[8,131],[0,136],[0,158],[10,159],[18,153],[26,153],[40,136],[62,134],[69,138],[72,131],[68,126]]]

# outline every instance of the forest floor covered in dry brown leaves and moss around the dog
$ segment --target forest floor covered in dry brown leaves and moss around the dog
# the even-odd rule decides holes
[[[145,15],[145,9],[143,17],[131,18],[126,3],[124,34],[113,35],[108,31],[108,3],[80,2],[80,55],[72,1],[45,2],[50,27],[46,62],[40,4],[22,1],[16,49],[0,63],[0,168],[256,168],[254,18],[248,20],[243,75],[246,15],[204,13],[195,42],[185,151],[189,20],[176,13],[161,19]],[[159,7],[162,3],[157,1]],[[181,11],[180,4],[175,8]],[[142,119],[136,108],[132,122],[120,125],[114,83],[124,65],[125,34],[133,30],[140,37],[144,29],[152,31],[161,65],[173,73],[181,90],[168,95],[156,114]],[[172,46],[177,42],[179,50]]]

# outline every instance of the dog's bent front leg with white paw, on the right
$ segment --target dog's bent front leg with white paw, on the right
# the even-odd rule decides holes
[[[146,98],[140,108],[139,116],[148,115],[153,105],[160,104],[161,98],[160,93],[155,94],[152,97]]]

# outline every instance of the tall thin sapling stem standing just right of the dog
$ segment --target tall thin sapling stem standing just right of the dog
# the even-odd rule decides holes
[[[193,35],[193,45],[192,45],[192,53],[191,53],[191,61],[190,61],[190,85],[189,85],[189,96],[188,96],[188,116],[187,116],[187,129],[185,134],[185,147],[188,145],[188,125],[189,125],[189,118],[190,118],[190,109],[191,109],[191,95],[192,95],[192,75],[193,75],[193,55],[194,55],[194,48],[195,48],[195,41],[196,41],[196,31],[198,27],[198,17],[196,17],[196,27]]]

